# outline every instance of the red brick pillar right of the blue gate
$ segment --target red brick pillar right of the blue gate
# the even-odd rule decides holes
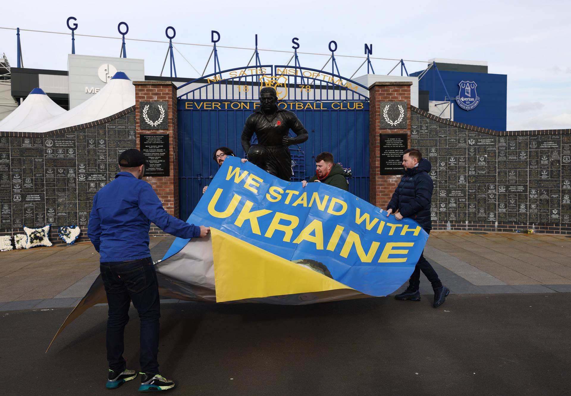
[[[382,81],[369,87],[369,202],[385,209],[399,184],[399,175],[380,174],[380,134],[408,134],[411,147],[411,85],[410,81]],[[407,102],[407,123],[400,129],[381,129],[381,102]]]

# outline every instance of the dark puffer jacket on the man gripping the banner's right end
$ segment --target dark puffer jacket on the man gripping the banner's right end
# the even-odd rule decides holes
[[[419,166],[407,169],[400,183],[393,193],[388,209],[393,213],[399,209],[403,217],[416,220],[423,228],[432,228],[430,209],[434,184],[428,174],[432,165],[429,160],[423,158]]]

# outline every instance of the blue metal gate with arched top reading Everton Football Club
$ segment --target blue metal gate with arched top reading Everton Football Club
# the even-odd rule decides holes
[[[206,83],[205,81],[206,80]],[[272,86],[279,106],[296,113],[309,139],[291,146],[292,181],[315,174],[315,156],[329,151],[351,168],[349,191],[369,197],[369,102],[367,87],[339,75],[292,66],[235,68],[193,80],[178,100],[180,217],[187,219],[218,171],[215,148],[244,156],[240,143],[246,118],[258,106],[259,90]],[[255,136],[254,136],[255,138]]]

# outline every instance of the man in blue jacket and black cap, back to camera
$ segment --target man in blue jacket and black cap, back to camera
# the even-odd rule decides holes
[[[174,381],[159,374],[159,288],[148,248],[151,221],[179,238],[203,238],[210,228],[169,215],[151,185],[141,180],[148,161],[131,148],[119,156],[115,180],[95,194],[87,236],[101,256],[99,270],[108,302],[108,389],[136,377],[123,358],[123,330],[131,301],[140,318],[139,391],[171,389]]]

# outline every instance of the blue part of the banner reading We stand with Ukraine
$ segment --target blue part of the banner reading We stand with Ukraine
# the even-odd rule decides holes
[[[187,223],[214,227],[290,261],[303,261],[371,296],[411,275],[428,234],[349,192],[289,183],[227,157]],[[163,260],[188,240],[176,239]]]

